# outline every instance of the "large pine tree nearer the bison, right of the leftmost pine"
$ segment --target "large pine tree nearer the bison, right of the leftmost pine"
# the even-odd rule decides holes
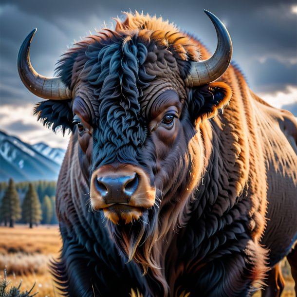
[[[41,218],[41,204],[34,186],[30,183],[23,201],[23,220],[25,223],[29,223],[30,228],[33,228],[33,224],[40,223]]]

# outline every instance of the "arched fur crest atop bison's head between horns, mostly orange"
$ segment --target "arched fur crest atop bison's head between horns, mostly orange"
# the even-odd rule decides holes
[[[98,32],[98,35],[86,37],[86,40],[76,43],[76,47],[62,57],[57,67],[57,73],[62,75],[62,79],[67,85],[74,85],[76,81],[74,71],[80,72],[83,69],[85,52],[94,43],[104,46],[121,41],[125,45],[131,39],[138,39],[148,47],[153,42],[170,51],[180,61],[198,61],[202,56],[207,55],[206,50],[200,47],[197,40],[180,32],[168,20],[138,12],[125,14],[126,19],[123,22],[120,19],[115,19],[114,30],[103,29]]]

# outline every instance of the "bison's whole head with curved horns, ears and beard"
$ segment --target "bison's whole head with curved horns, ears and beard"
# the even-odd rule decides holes
[[[158,266],[158,244],[185,223],[209,153],[207,118],[231,96],[226,84],[213,82],[229,66],[231,39],[223,23],[206,14],[218,36],[208,59],[173,24],[138,13],[69,50],[58,77],[43,77],[30,63],[36,30],[19,51],[23,83],[48,99],[37,105],[38,119],[53,130],[72,130],[78,143],[72,166],[90,185],[101,217],[92,215],[107,219],[113,240],[145,270]],[[83,194],[67,201],[86,207]]]

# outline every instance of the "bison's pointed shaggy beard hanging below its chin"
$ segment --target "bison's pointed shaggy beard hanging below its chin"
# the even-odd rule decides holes
[[[157,207],[143,209],[138,221],[125,224],[114,224],[108,220],[108,228],[112,240],[118,248],[128,257],[128,261],[139,263],[144,275],[150,268],[159,268],[152,259],[151,249],[157,239]]]

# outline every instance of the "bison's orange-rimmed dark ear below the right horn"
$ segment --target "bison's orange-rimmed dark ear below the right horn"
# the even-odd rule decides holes
[[[191,92],[189,110],[194,121],[198,118],[203,120],[214,117],[218,109],[223,108],[232,96],[231,88],[224,82],[213,82],[193,88]]]

